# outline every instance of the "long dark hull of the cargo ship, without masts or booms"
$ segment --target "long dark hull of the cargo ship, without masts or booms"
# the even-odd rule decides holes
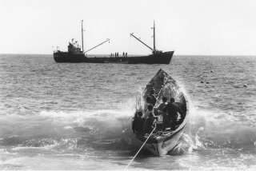
[[[55,62],[121,63],[121,64],[170,64],[174,51],[138,57],[87,58],[84,54],[55,52]]]

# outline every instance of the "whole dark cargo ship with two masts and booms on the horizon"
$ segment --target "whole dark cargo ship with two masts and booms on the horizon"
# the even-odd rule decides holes
[[[83,22],[83,21],[82,21]],[[118,56],[118,54],[111,54],[110,57],[88,57],[86,55],[87,52],[93,50],[94,48],[101,46],[105,42],[110,42],[110,39],[106,39],[106,41],[100,43],[90,50],[84,51],[83,48],[83,26],[82,26],[82,50],[81,46],[78,45],[77,42],[69,42],[68,51],[63,52],[61,50],[54,51],[54,61],[55,62],[86,62],[86,63],[122,63],[122,64],[170,64],[170,60],[173,57],[174,51],[162,52],[162,50],[156,50],[155,48],[155,25],[153,27],[153,38],[154,38],[154,47],[151,48],[147,46],[146,43],[142,42],[139,38],[137,38],[134,34],[130,34],[130,36],[136,38],[143,45],[152,50],[152,54],[146,56],[127,56],[127,54],[123,54],[122,57]]]

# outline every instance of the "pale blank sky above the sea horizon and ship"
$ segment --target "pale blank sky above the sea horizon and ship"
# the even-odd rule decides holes
[[[0,0],[0,54],[66,51],[82,19],[85,50],[110,38],[89,54],[150,54],[155,21],[158,50],[256,55],[254,0]]]

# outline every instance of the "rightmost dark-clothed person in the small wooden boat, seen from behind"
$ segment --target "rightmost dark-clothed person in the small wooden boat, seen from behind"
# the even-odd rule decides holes
[[[163,117],[163,129],[170,126],[171,130],[175,130],[177,125],[178,113],[184,116],[182,109],[174,102],[174,98],[170,98],[170,103],[163,109],[166,115]]]

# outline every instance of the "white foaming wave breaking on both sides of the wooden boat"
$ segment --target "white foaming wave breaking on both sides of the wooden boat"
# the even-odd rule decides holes
[[[95,149],[134,152],[139,146],[130,129],[133,113],[133,102],[123,104],[120,109],[94,111],[33,113],[19,108],[1,115],[0,145],[14,152],[22,149],[54,153],[92,153]],[[198,109],[191,104],[189,117],[182,143],[172,154],[256,153],[253,121],[244,121],[233,113]]]

